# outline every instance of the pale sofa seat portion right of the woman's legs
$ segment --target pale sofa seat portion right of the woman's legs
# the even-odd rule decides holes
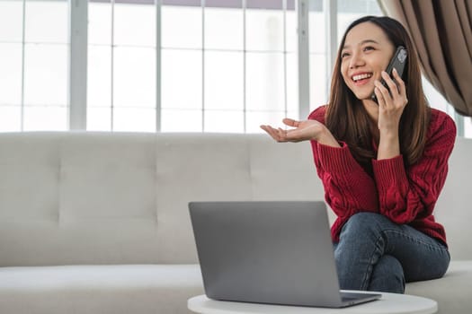
[[[451,261],[441,279],[407,283],[405,293],[438,302],[438,314],[471,313],[472,261]],[[446,310],[447,309],[447,310]]]

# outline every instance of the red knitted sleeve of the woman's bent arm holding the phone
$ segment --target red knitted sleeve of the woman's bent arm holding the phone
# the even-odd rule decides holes
[[[434,110],[423,157],[405,169],[402,156],[372,161],[380,214],[396,223],[432,214],[448,173],[456,138],[452,118]]]

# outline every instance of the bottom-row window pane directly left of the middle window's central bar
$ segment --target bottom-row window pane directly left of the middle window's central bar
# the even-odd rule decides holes
[[[113,131],[155,132],[156,109],[113,109]]]

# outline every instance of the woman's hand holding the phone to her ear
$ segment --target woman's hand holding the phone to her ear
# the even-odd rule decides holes
[[[398,133],[398,126],[400,124],[400,118],[402,117],[403,110],[405,109],[408,100],[406,99],[405,82],[396,72],[393,70],[392,78],[387,72],[382,72],[382,78],[387,83],[388,89],[383,86],[380,82],[375,82],[375,94],[378,99],[378,130],[380,134],[387,132]]]

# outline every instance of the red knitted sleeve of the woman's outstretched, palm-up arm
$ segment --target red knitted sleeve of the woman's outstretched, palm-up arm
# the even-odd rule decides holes
[[[325,107],[309,118],[325,122]],[[325,188],[325,200],[338,217],[358,212],[378,212],[378,193],[374,179],[354,159],[347,144],[332,147],[311,141],[316,172]]]

